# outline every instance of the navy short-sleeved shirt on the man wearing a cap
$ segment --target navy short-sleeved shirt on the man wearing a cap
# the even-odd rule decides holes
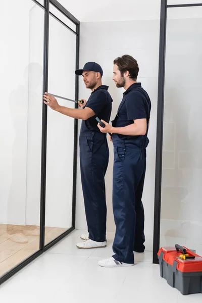
[[[97,127],[97,121],[95,120],[96,117],[98,117],[100,120],[103,119],[109,123],[113,100],[110,93],[108,92],[108,88],[109,86],[100,85],[91,92],[91,95],[87,100],[85,107],[93,110],[95,116],[90,117],[86,121],[82,121],[81,131],[90,130],[100,132]]]

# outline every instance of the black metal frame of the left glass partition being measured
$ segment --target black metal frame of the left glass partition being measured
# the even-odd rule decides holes
[[[41,5],[38,1],[32,0],[36,5],[44,9],[44,45],[43,45],[43,93],[47,91],[48,86],[48,36],[49,36],[49,15],[52,15],[71,32],[76,34],[76,66],[75,69],[79,68],[79,39],[80,39],[80,22],[69,13],[57,0],[44,0],[44,5]],[[58,17],[49,12],[49,4],[54,5],[61,13],[63,13],[69,20],[76,25],[76,32],[70,27],[64,24]],[[78,76],[75,76],[75,99],[78,99]],[[78,108],[78,105],[75,105]],[[62,233],[53,241],[44,245],[45,240],[45,187],[46,187],[46,138],[47,138],[47,106],[42,106],[42,138],[41,138],[41,198],[40,198],[40,244],[39,250],[33,255],[19,263],[17,266],[12,268],[10,271],[5,273],[0,278],[0,284],[8,280],[15,273],[20,271],[23,267],[28,265],[38,256],[43,254],[44,251],[55,245],[70,232],[75,229],[75,212],[76,212],[76,174],[77,174],[77,138],[78,138],[78,120],[74,119],[74,159],[73,159],[73,195],[72,195],[72,226],[67,231]]]

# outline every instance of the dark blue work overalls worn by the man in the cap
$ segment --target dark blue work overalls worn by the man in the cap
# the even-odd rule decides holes
[[[107,88],[104,90],[99,87],[96,94],[91,94],[86,107],[91,108],[99,119],[109,121],[112,98]],[[99,98],[99,95],[102,94],[103,98],[103,92],[106,94],[107,103],[98,113],[97,107],[94,105],[97,103],[100,109],[102,99]],[[80,169],[89,239],[104,242],[106,240],[107,219],[105,174],[109,162],[109,148],[106,134],[101,133],[97,127],[96,116],[86,121],[83,120],[81,124],[79,136]]]

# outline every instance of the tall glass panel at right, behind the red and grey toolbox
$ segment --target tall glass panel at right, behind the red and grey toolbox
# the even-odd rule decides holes
[[[184,10],[168,9],[160,245],[201,255],[202,7]]]

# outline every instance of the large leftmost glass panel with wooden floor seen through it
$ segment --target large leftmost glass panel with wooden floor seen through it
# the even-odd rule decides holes
[[[39,249],[43,23],[31,0],[1,6],[0,276]]]

